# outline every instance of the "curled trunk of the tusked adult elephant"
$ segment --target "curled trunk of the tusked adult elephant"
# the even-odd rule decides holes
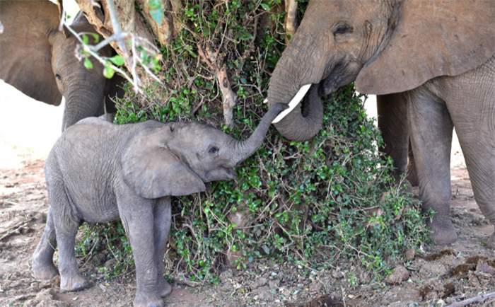
[[[320,131],[323,121],[323,107],[319,95],[319,83],[325,73],[326,52],[316,49],[315,40],[319,33],[310,33],[318,29],[313,21],[303,20],[296,35],[282,54],[272,74],[268,88],[268,105],[289,103],[307,84],[313,84],[302,103],[289,115],[275,123],[279,132],[293,141],[305,141]],[[308,29],[308,30],[306,30]],[[309,32],[308,32],[309,31]]]

